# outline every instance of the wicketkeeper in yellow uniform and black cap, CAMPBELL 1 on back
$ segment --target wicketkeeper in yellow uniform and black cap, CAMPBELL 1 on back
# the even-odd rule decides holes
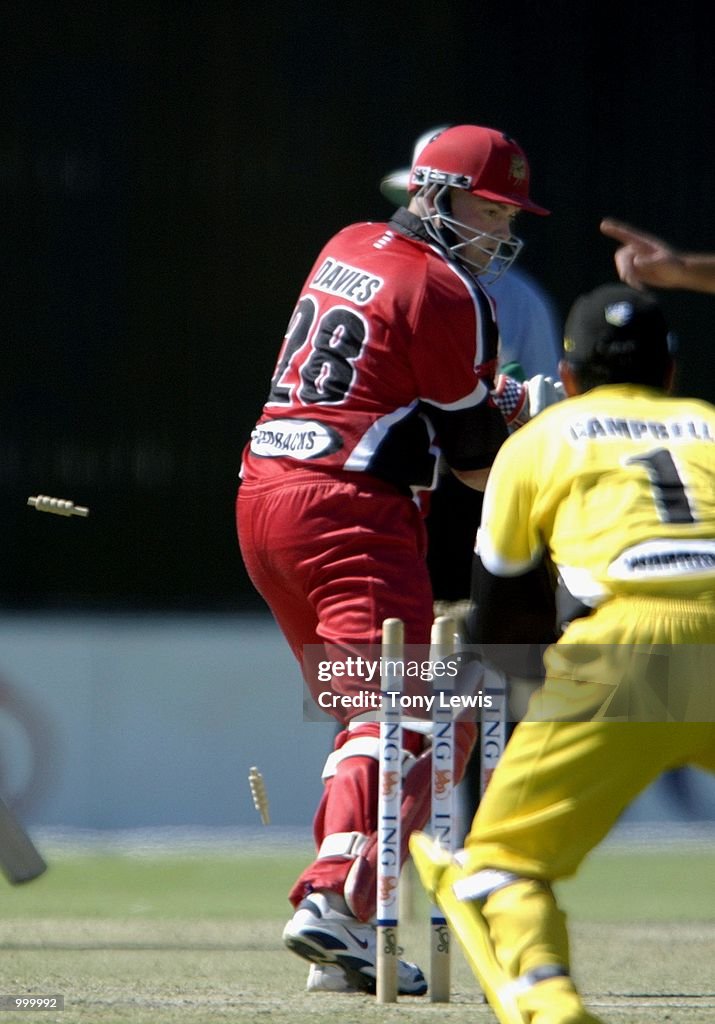
[[[672,372],[653,297],[582,296],[570,397],[512,434],[487,486],[477,639],[539,639],[544,559],[566,622],[465,849],[417,834],[411,850],[502,1024],[596,1021],[550,883],[662,772],[715,772],[715,408],[668,396]]]

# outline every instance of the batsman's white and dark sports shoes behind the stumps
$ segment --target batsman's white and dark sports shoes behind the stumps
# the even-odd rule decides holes
[[[322,974],[308,976],[308,991],[375,992],[375,927],[334,909],[323,893],[310,893],[299,904],[283,930],[283,941],[298,956],[342,971],[347,987],[334,987],[336,978],[331,971],[325,987]],[[425,977],[416,964],[398,961],[397,991],[401,995],[424,995],[427,991]]]

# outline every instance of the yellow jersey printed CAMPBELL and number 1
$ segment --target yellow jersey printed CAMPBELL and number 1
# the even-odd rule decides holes
[[[591,607],[634,592],[715,599],[715,407],[609,384],[545,410],[497,455],[477,551],[498,577],[548,553]]]

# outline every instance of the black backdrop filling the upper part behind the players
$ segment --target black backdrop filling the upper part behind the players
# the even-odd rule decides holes
[[[0,7],[0,603],[259,607],[240,452],[295,297],[415,138],[514,135],[522,265],[565,314],[615,276],[605,214],[713,249],[710,5]],[[713,399],[713,300],[663,295]],[[71,498],[87,520],[27,508]]]

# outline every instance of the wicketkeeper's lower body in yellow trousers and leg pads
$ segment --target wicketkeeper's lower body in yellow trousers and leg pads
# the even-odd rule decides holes
[[[503,1024],[596,1021],[567,976],[538,980],[540,969],[570,967],[550,883],[574,874],[663,772],[715,773],[714,651],[711,597],[615,599],[547,651],[546,682],[492,776],[459,866],[434,885]],[[511,881],[481,900],[460,896],[464,880],[489,879],[488,869]],[[509,979],[520,985],[515,999]]]

